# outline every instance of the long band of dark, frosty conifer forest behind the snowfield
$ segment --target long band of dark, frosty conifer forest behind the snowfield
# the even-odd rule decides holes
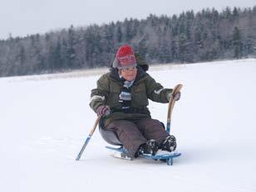
[[[149,64],[256,57],[256,6],[182,12],[0,40],[0,76],[110,66],[123,44]]]

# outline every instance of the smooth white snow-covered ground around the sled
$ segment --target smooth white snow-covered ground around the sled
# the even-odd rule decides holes
[[[75,161],[96,120],[88,103],[100,74],[1,78],[0,191],[256,191],[256,60],[149,73],[165,87],[184,84],[172,118],[182,153],[174,166],[113,158],[98,131]],[[166,122],[167,104],[150,110]]]

